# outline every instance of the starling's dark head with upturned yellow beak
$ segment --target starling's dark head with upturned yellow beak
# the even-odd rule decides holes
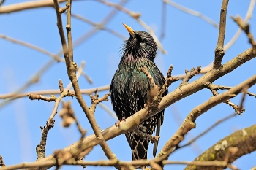
[[[154,61],[157,54],[157,43],[154,42],[153,37],[145,31],[133,31],[126,24],[124,27],[127,28],[130,35],[129,39],[124,42],[124,57],[148,58]]]

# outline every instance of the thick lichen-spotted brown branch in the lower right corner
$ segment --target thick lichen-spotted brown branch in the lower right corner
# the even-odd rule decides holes
[[[231,139],[231,141],[230,141]],[[219,140],[217,144],[214,144],[206,152],[203,152],[202,155],[195,158],[195,161],[223,161],[225,160],[227,150],[231,147],[237,147],[238,150],[229,155],[228,163],[233,163],[237,158],[240,158],[242,155],[246,155],[250,152],[256,150],[255,145],[256,140],[256,125],[252,125],[249,128],[244,128],[242,130],[236,131],[229,136],[226,136],[224,139]],[[187,166],[186,169],[195,169],[195,166]],[[217,169],[217,167],[211,166],[198,166],[196,169]]]

